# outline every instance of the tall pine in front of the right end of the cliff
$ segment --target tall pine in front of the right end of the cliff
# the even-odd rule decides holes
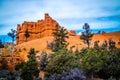
[[[54,47],[53,47],[53,52],[59,51],[62,48],[67,47],[67,41],[66,38],[68,38],[67,36],[67,32],[66,29],[64,29],[64,27],[60,28],[58,25],[56,25],[56,29],[55,32],[53,32],[54,34]]]

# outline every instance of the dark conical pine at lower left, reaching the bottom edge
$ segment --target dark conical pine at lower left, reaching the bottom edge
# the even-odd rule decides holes
[[[30,49],[28,58],[29,60],[24,64],[24,66],[21,69],[21,77],[23,80],[34,80],[39,75],[34,48]]]

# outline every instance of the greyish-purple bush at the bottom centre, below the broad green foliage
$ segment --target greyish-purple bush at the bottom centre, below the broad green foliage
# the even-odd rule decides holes
[[[62,74],[53,74],[47,80],[86,80],[86,76],[82,70],[78,68],[71,69],[69,72]]]

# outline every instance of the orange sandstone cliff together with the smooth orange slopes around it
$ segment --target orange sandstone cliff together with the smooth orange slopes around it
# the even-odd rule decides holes
[[[45,14],[44,20],[38,20],[37,22],[25,21],[22,25],[18,24],[16,40],[17,45],[15,47],[17,49],[22,49],[20,56],[27,60],[27,52],[30,50],[30,48],[35,48],[35,50],[39,51],[38,55],[40,55],[42,51],[51,53],[51,50],[47,48],[47,43],[50,43],[54,40],[52,33],[55,31],[55,26],[57,24],[57,21],[52,19],[48,14]],[[59,24],[58,26],[61,28]],[[30,33],[30,37],[27,39],[28,42],[26,42],[26,38],[24,36],[26,29],[28,29]],[[66,30],[66,32],[68,32],[69,36],[67,39],[67,42],[69,43],[68,49],[70,49],[72,46],[75,46],[73,50],[76,48],[80,50],[81,48],[87,47],[86,44],[80,40],[80,35],[77,35],[74,30]],[[116,47],[120,48],[120,45],[118,45],[118,41],[120,40],[120,32],[103,32],[102,34],[95,34],[91,40],[91,47],[93,47],[94,41],[99,40],[99,45],[101,46],[104,40],[108,41],[109,39],[115,41]],[[26,51],[23,50],[24,48]]]

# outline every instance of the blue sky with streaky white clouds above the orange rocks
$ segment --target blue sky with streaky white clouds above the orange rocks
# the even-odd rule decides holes
[[[85,22],[93,31],[120,31],[120,0],[0,0],[0,35],[45,13],[78,33]]]

